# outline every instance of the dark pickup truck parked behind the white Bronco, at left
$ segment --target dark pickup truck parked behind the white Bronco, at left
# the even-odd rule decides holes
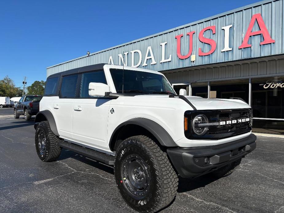
[[[29,121],[32,115],[36,115],[39,111],[39,103],[42,95],[24,95],[14,106],[14,118],[18,119],[20,115],[24,115],[25,120]]]

